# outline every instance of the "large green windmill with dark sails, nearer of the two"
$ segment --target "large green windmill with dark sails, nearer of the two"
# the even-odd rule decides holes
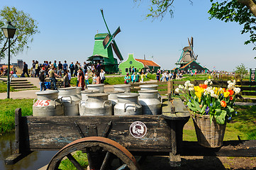
[[[106,25],[102,9],[101,15]],[[113,57],[113,51],[116,53],[116,56],[119,60],[122,61],[123,57],[116,45],[116,41],[114,40],[114,38],[118,33],[121,32],[121,30],[120,27],[118,27],[116,31],[113,33],[113,35],[111,35],[107,25],[106,28],[108,30],[108,33],[97,33],[95,35],[94,52],[91,57],[88,57],[87,61],[90,61],[90,64],[97,64],[99,62],[101,64],[101,67],[103,67],[103,69],[105,70],[105,72],[116,73],[118,72],[118,62],[117,59]]]

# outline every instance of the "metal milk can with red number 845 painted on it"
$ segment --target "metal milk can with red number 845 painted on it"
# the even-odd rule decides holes
[[[57,98],[59,91],[38,91],[35,94],[38,100],[33,101],[33,116],[64,115],[64,106],[60,98]]]

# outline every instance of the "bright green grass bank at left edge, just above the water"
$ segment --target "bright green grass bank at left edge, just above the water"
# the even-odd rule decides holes
[[[21,108],[22,115],[32,115],[33,99],[0,100],[0,134],[14,130],[15,109]]]

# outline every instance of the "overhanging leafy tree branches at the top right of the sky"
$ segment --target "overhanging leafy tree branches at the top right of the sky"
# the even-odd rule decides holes
[[[135,2],[141,0],[133,0]],[[169,11],[170,16],[173,16],[172,4],[174,0],[150,0],[150,13],[146,18],[162,18]],[[187,0],[193,4],[192,0]],[[213,2],[208,13],[211,18],[217,18],[225,22],[236,22],[243,25],[241,33],[250,33],[250,39],[245,41],[245,45],[256,42],[256,1],[255,0],[210,0]],[[219,3],[218,1],[221,1]],[[256,50],[256,45],[253,48]]]

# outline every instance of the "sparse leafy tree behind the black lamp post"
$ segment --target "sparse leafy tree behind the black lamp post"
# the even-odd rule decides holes
[[[28,42],[33,41],[33,35],[40,33],[38,23],[28,13],[9,6],[5,6],[0,11],[0,27],[4,26],[6,21],[11,21],[11,24],[17,28],[14,38],[11,39],[10,51],[12,55],[18,55],[19,52],[23,52],[24,47],[29,48]],[[8,52],[7,41],[4,33],[0,30],[0,60],[4,59],[6,52]]]

